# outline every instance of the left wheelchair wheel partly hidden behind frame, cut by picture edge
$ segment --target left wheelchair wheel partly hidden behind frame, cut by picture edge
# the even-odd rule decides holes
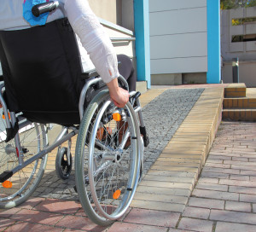
[[[2,121],[5,125],[5,120]],[[15,139],[5,142],[5,127],[0,130],[0,174],[10,171],[19,165],[19,152]],[[18,132],[24,162],[48,144],[45,125],[32,123]],[[0,183],[0,208],[11,208],[20,205],[34,192],[44,174],[47,155],[27,165],[3,183]]]

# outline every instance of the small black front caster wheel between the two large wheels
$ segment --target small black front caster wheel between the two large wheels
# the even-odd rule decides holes
[[[67,180],[72,171],[72,163],[72,155],[70,154],[68,157],[67,148],[59,149],[55,159],[55,170],[57,176],[63,180]]]

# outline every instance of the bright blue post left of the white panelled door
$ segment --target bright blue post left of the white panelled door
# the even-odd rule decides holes
[[[150,89],[150,47],[148,0],[134,0],[134,26],[136,37],[137,80],[147,81]]]

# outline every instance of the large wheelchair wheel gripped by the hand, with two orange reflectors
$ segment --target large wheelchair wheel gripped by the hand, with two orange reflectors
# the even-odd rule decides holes
[[[75,157],[79,200],[94,223],[113,223],[130,206],[139,179],[140,146],[130,102],[115,107],[108,90],[102,91],[84,113]]]

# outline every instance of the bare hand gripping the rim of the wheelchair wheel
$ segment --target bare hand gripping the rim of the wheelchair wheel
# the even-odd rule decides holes
[[[114,105],[117,107],[125,107],[125,104],[129,101],[130,96],[128,91],[119,87],[117,78],[114,78],[107,85]]]

